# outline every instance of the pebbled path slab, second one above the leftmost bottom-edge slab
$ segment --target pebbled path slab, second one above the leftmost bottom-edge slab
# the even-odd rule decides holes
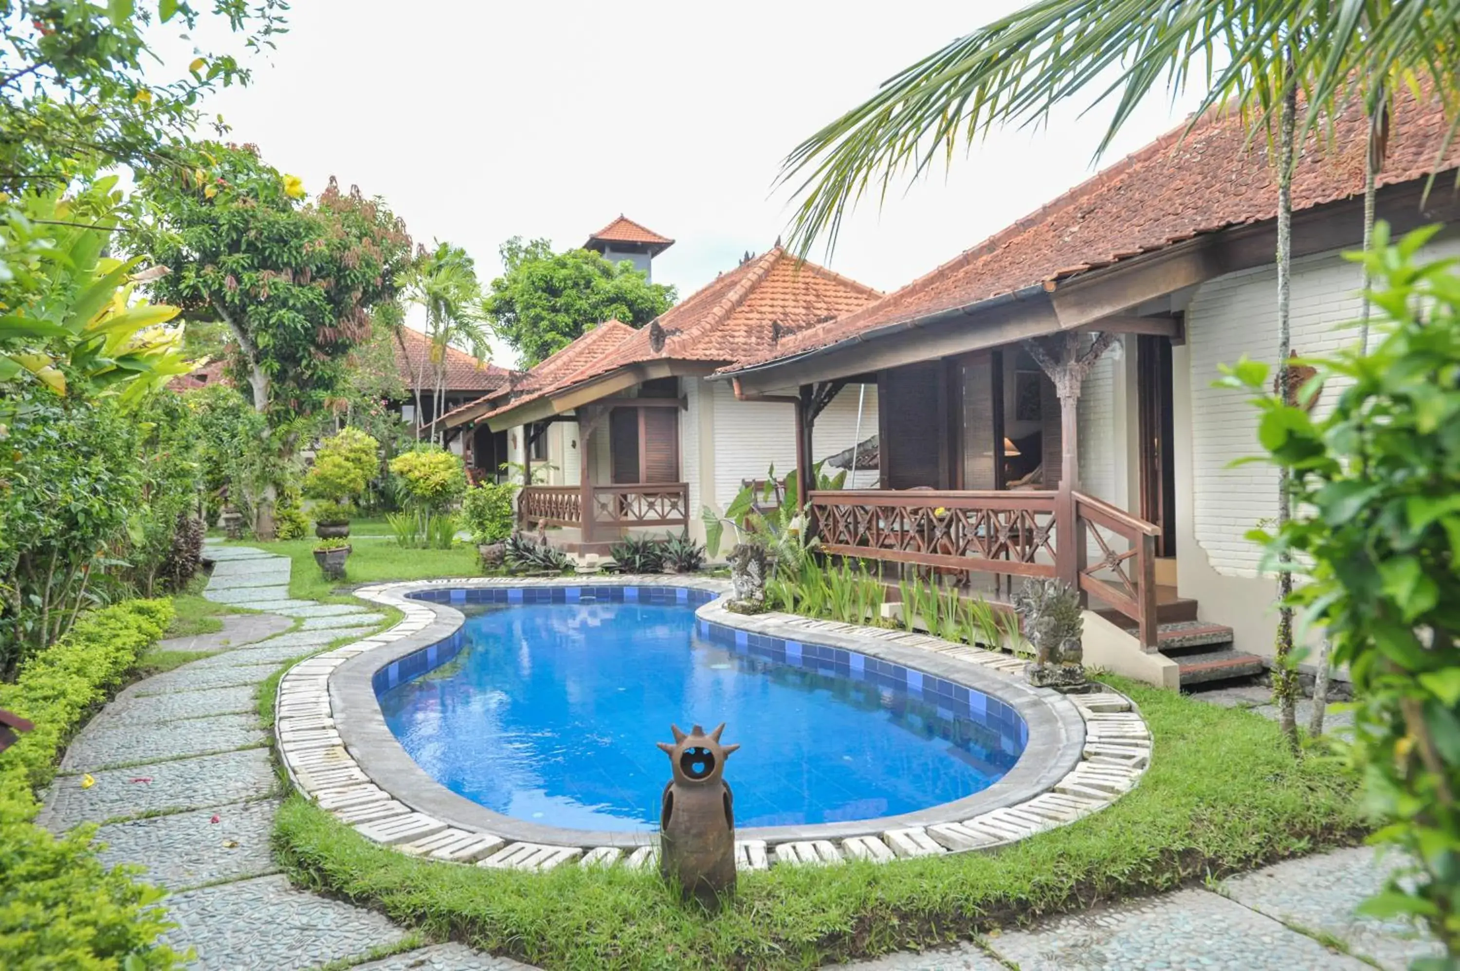
[[[91,788],[82,788],[76,775],[57,778],[45,796],[41,825],[58,832],[80,822],[222,806],[264,796],[274,784],[264,749],[105,769],[92,772],[92,778]],[[133,778],[152,781],[133,783]]]

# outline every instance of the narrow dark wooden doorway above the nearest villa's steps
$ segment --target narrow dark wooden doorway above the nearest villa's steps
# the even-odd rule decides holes
[[[1142,334],[1136,342],[1136,407],[1140,413],[1140,518],[1161,527],[1161,534],[1156,537],[1156,556],[1177,555],[1172,393],[1171,339]]]

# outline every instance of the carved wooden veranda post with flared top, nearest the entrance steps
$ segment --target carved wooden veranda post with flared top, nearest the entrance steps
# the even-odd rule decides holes
[[[1079,331],[1072,330],[1025,340],[1023,346],[1054,383],[1054,393],[1060,399],[1060,488],[1054,518],[1058,542],[1054,548],[1054,567],[1056,575],[1079,593],[1080,603],[1085,603],[1086,597],[1080,590],[1085,536],[1075,513],[1075,492],[1080,473],[1080,387],[1099,356],[1115,342],[1115,334],[1108,330],[1096,334],[1083,353],[1080,353],[1080,337]]]

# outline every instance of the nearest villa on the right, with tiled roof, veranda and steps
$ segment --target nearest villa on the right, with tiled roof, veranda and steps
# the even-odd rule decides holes
[[[1342,251],[1362,238],[1364,124],[1337,118],[1294,178],[1298,355],[1333,350],[1359,315]],[[1377,204],[1396,234],[1460,215],[1460,150],[1425,193],[1447,130],[1438,108],[1394,112]],[[715,393],[876,385],[880,489],[810,494],[828,552],[996,591],[1060,577],[1099,610],[1088,656],[1158,685],[1260,672],[1275,588],[1244,534],[1276,515],[1276,470],[1232,466],[1257,451],[1257,413],[1213,381],[1242,353],[1276,355],[1275,178],[1238,118],[1178,128],[908,286],[742,358]],[[1460,254],[1460,234],[1428,250]],[[796,438],[821,441],[813,415],[797,410]]]

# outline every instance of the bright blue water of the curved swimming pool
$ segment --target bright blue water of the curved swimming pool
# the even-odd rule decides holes
[[[457,638],[377,676],[385,723],[428,774],[482,806],[610,831],[654,828],[670,774],[654,743],[670,740],[670,723],[729,723],[723,740],[742,746],[726,764],[739,826],[924,809],[988,787],[1023,749],[1023,721],[997,699],[848,651],[696,625],[692,603],[622,602],[618,590],[619,602],[600,591],[464,606]]]

